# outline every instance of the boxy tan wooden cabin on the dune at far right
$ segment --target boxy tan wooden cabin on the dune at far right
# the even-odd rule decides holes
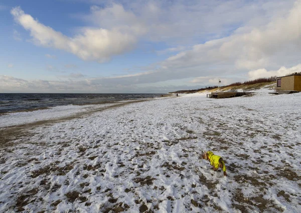
[[[277,77],[276,90],[301,91],[301,75]]]

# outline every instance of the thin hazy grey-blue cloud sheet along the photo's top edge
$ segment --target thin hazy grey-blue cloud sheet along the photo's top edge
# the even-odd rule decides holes
[[[118,25],[136,25],[147,30],[147,40],[169,44],[191,44],[229,35],[240,26],[264,25],[274,16],[282,16],[293,0],[192,0],[192,1],[89,1],[101,7],[111,7],[101,13],[91,13],[86,19],[96,26],[107,28]],[[98,7],[94,7],[98,8]],[[120,14],[118,17],[114,14]],[[100,19],[98,19],[100,18]],[[242,29],[240,29],[242,31]]]

